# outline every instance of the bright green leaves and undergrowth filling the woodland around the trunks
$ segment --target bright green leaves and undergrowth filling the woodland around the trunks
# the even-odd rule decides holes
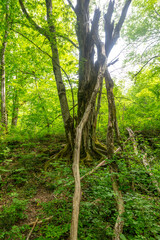
[[[65,158],[54,159],[54,155],[62,149],[65,141],[50,57],[51,49],[48,40],[30,28],[17,2],[13,0],[9,2],[9,20],[12,26],[5,55],[9,132],[7,136],[0,133],[0,189],[2,191],[0,200],[3,204],[3,201],[5,202],[8,198],[10,204],[4,204],[0,213],[2,229],[0,238],[26,239],[31,228],[20,225],[27,217],[25,200],[27,198],[30,202],[30,210],[35,211],[33,216],[35,219],[37,216],[39,219],[53,216],[49,223],[44,221],[36,226],[32,238],[68,239],[74,186],[71,164]],[[62,75],[69,108],[72,108],[70,83],[76,104],[78,51],[67,38],[69,36],[77,44],[76,19],[74,12],[64,4],[64,1],[52,2],[52,20],[57,34],[60,65],[63,68]],[[114,14],[117,19],[121,3],[116,4],[117,12]],[[5,5],[6,0],[1,0],[0,43],[5,31]],[[26,6],[36,23],[47,30],[45,2],[28,0]],[[133,82],[127,92],[124,92],[126,79],[118,82],[114,87],[122,142],[128,137],[126,127],[136,130],[139,154],[135,156],[133,146],[129,142],[125,144],[122,153],[115,155],[113,159],[106,160],[107,166],[82,180],[78,233],[81,240],[110,240],[113,237],[117,210],[108,168],[113,161],[119,168],[119,172],[115,175],[125,202],[124,231],[120,236],[121,240],[160,239],[159,195],[142,164],[145,152],[154,175],[153,179],[159,184],[160,68],[159,57],[156,57],[160,47],[159,16],[156,13],[158,6],[156,0],[133,1],[127,27],[123,30],[126,42],[130,43],[126,62],[130,61],[136,66],[136,70],[142,71],[134,78],[133,72],[130,71]],[[136,42],[141,43],[139,47]],[[148,63],[144,65],[147,61]],[[64,70],[69,76],[70,83]],[[104,86],[97,124],[97,136],[102,141],[106,139],[107,101]],[[19,110],[18,124],[13,127],[11,122],[15,106]],[[75,113],[76,111],[75,108]],[[46,163],[49,163],[47,170]],[[94,164],[97,165],[98,162],[95,160]],[[81,163],[81,176],[92,167],[85,167],[84,163]],[[48,195],[52,193],[52,197],[49,195],[52,200],[35,204],[34,197],[39,190]],[[18,196],[21,196],[21,199],[18,199]]]

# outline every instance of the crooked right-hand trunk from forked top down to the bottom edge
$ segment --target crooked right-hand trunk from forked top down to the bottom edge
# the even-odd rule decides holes
[[[124,20],[126,18],[126,14],[127,14],[130,3],[131,3],[131,0],[126,0],[121,12],[119,21],[116,24],[116,26],[114,26],[114,21],[112,21],[112,15],[114,12],[115,1],[110,0],[109,2],[107,13],[104,16],[105,18],[105,52],[107,57],[109,56],[112,48],[114,47],[114,45],[116,44],[120,36],[120,31],[124,23]],[[106,83],[107,98],[108,98],[107,152],[108,152],[108,157],[112,159],[114,155],[114,132],[116,135],[116,139],[118,141],[120,140],[120,134],[118,129],[118,123],[117,123],[117,117],[116,117],[116,106],[115,106],[115,100],[114,100],[114,94],[113,94],[114,83],[107,68],[105,71],[105,83]],[[124,208],[122,192],[119,190],[118,164],[116,161],[113,161],[110,164],[109,170],[111,173],[112,186],[113,186],[113,191],[115,193],[115,200],[116,200],[117,210],[118,210],[118,217],[114,226],[113,240],[120,240],[120,234],[123,232],[123,225],[124,225],[122,214],[124,213],[125,208]]]

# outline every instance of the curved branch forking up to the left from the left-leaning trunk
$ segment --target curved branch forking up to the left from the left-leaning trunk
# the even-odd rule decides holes
[[[47,34],[46,30],[40,26],[38,26],[35,21],[31,18],[31,16],[28,14],[24,4],[23,4],[23,0],[19,0],[19,4],[21,6],[22,12],[24,13],[24,15],[26,16],[26,18],[28,19],[28,21],[30,22],[30,24],[32,25],[32,27],[37,30],[40,34],[42,34],[43,36],[45,36],[46,38],[49,38],[49,35]]]

